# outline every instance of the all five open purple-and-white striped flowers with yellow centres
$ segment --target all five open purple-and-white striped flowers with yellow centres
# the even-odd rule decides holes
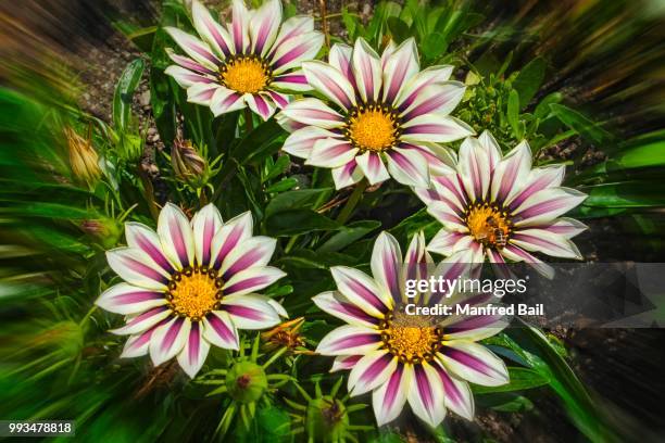
[[[215,115],[249,106],[264,119],[279,109],[277,119],[291,132],[284,151],[330,168],[338,189],[392,177],[412,187],[442,225],[428,245],[422,233],[414,237],[404,257],[397,240],[381,233],[373,277],[331,268],[337,290],[314,303],[348,325],[331,331],[316,351],[336,356],[332,370],[351,369],[352,395],[373,392],[379,425],[398,417],[406,402],[431,426],[447,408],[472,419],[467,382],[509,381],[503,362],[477,343],[498,333],[505,320],[414,324],[401,311],[403,281],[427,278],[423,265],[432,263],[429,252],[447,256],[448,265],[488,260],[501,268],[507,260],[544,274],[548,265],[532,252],[580,258],[570,238],[586,227],[561,216],[585,195],[561,186],[563,165],[532,168],[526,142],[503,155],[489,132],[473,138],[466,124],[450,116],[464,85],[450,80],[452,66],[421,71],[413,39],[389,43],[380,55],[362,39],[353,47],[334,45],[326,63],[312,60],[323,45],[313,20],[281,23],[278,0],[253,11],[235,0],[228,26],[196,0],[191,12],[200,39],[166,29],[186,54],[170,51],[176,65],[166,72],[187,88],[190,102]],[[292,94],[312,90],[326,100]],[[439,144],[461,139],[459,153]],[[150,354],[155,365],[177,357],[195,377],[211,345],[237,350],[238,329],[277,325],[284,308],[256,294],[285,275],[268,266],[276,241],[252,231],[250,213],[223,221],[213,205],[189,220],[167,204],[156,232],[127,224],[128,246],[108,252],[125,282],[97,301],[126,316],[126,325],[113,331],[129,336],[122,356]]]

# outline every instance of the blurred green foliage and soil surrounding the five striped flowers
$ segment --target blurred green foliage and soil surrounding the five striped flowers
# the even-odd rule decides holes
[[[0,417],[75,419],[84,441],[219,436],[228,397],[206,396],[211,389],[188,383],[177,367],[118,360],[122,342],[106,333],[118,318],[92,308],[113,278],[103,251],[124,242],[122,220],[152,224],[166,200],[195,211],[214,201],[225,218],[251,210],[262,233],[280,238],[276,263],[289,279],[269,292],[284,299],[292,318],[308,318],[302,333],[310,349],[334,327],[309,301],[330,287],[329,266],[366,266],[381,229],[403,245],[416,230],[434,233],[417,200],[393,185],[365,193],[342,226],[337,202],[349,191],[335,193],[329,174],[279,154],[286,135],[274,122],[255,121],[248,131],[241,115],[213,121],[186,103],[163,74],[166,37],[155,27],[186,27],[180,3],[0,8]],[[289,13],[297,10],[323,13],[318,3],[287,4]],[[332,41],[363,36],[378,46],[389,36],[416,37],[424,65],[454,64],[455,77],[469,85],[456,116],[490,129],[504,149],[526,137],[540,164],[566,162],[566,185],[590,194],[575,214],[590,226],[578,244],[587,260],[601,262],[662,261],[663,14],[657,1],[610,0],[328,2],[325,9]],[[222,156],[212,192],[173,175],[178,114],[185,136],[206,147],[209,162]],[[89,135],[108,160],[101,181],[73,175],[65,126]],[[662,332],[511,331],[491,343],[511,350],[510,392],[478,392],[475,423],[453,418],[427,431],[405,418],[396,429],[353,434],[361,441],[656,441],[665,400],[657,388]],[[208,366],[227,359],[211,355]],[[317,383],[334,389],[328,368],[329,360],[308,355],[273,366],[311,395]],[[287,383],[266,397],[251,426],[236,423],[227,439],[292,439],[300,425],[288,414],[298,414],[283,396],[304,401]],[[369,409],[351,417],[354,425],[373,423]]]

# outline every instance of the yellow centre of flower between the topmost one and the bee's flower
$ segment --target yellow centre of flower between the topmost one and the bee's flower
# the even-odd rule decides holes
[[[361,150],[385,151],[398,139],[397,115],[385,106],[361,106],[349,116],[346,134]]]

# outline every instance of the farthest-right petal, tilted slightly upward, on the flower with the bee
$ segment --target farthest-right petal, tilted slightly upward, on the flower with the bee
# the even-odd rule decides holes
[[[579,205],[587,194],[570,188],[550,188],[536,192],[513,213],[517,227],[550,221]]]

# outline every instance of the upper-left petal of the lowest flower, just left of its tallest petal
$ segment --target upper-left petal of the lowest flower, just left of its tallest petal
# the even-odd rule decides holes
[[[390,294],[365,273],[347,266],[334,266],[330,273],[339,292],[371,316],[382,318],[392,308]]]

